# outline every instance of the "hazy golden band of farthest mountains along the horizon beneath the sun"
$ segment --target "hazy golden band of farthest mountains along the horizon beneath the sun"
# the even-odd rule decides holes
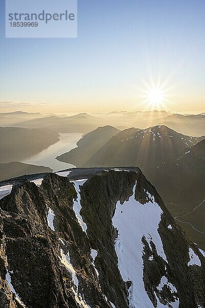
[[[68,117],[66,114],[40,114],[23,111],[0,114],[0,126],[25,128],[47,127],[57,132],[87,133],[98,126],[110,125],[119,129],[129,127],[147,128],[166,125],[173,130],[190,136],[205,134],[205,115],[177,114],[169,111],[113,111],[79,113]]]

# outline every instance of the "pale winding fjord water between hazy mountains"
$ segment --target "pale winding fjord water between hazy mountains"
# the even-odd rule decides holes
[[[55,158],[62,153],[68,152],[76,147],[77,141],[82,137],[82,133],[59,133],[59,141],[50,145],[47,149],[30,156],[22,163],[33,164],[37,166],[50,167],[53,171],[63,170],[75,167],[72,164],[59,162]]]

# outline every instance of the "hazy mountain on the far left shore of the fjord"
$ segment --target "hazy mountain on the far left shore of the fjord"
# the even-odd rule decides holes
[[[0,127],[0,163],[19,161],[58,140],[58,133],[49,129]]]

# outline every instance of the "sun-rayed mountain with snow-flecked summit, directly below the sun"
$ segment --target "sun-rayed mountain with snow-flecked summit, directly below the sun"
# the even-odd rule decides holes
[[[183,149],[195,145],[204,138],[185,136],[163,125],[141,130],[130,128],[115,134],[86,162],[82,163],[80,157],[79,160],[76,158],[75,165],[78,167],[139,166],[147,169],[148,165],[155,166],[170,156],[178,157]],[[89,147],[90,144],[87,143],[86,146]],[[72,163],[70,158],[69,161],[66,158],[63,160],[64,158],[65,156],[61,156],[60,160]]]

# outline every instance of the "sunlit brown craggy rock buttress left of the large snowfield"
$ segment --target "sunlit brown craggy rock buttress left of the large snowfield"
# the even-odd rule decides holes
[[[71,274],[60,261],[68,250],[79,278],[78,291],[88,294],[89,304],[102,303],[102,307],[109,307],[100,294],[88,237],[72,209],[75,198],[72,183],[50,175],[40,188],[27,182],[14,187],[11,194],[0,201],[2,267],[4,273],[7,270],[11,273],[15,292],[27,307],[80,307],[72,291]],[[55,212],[56,232],[48,226],[48,207]],[[1,278],[5,281],[5,274]]]

